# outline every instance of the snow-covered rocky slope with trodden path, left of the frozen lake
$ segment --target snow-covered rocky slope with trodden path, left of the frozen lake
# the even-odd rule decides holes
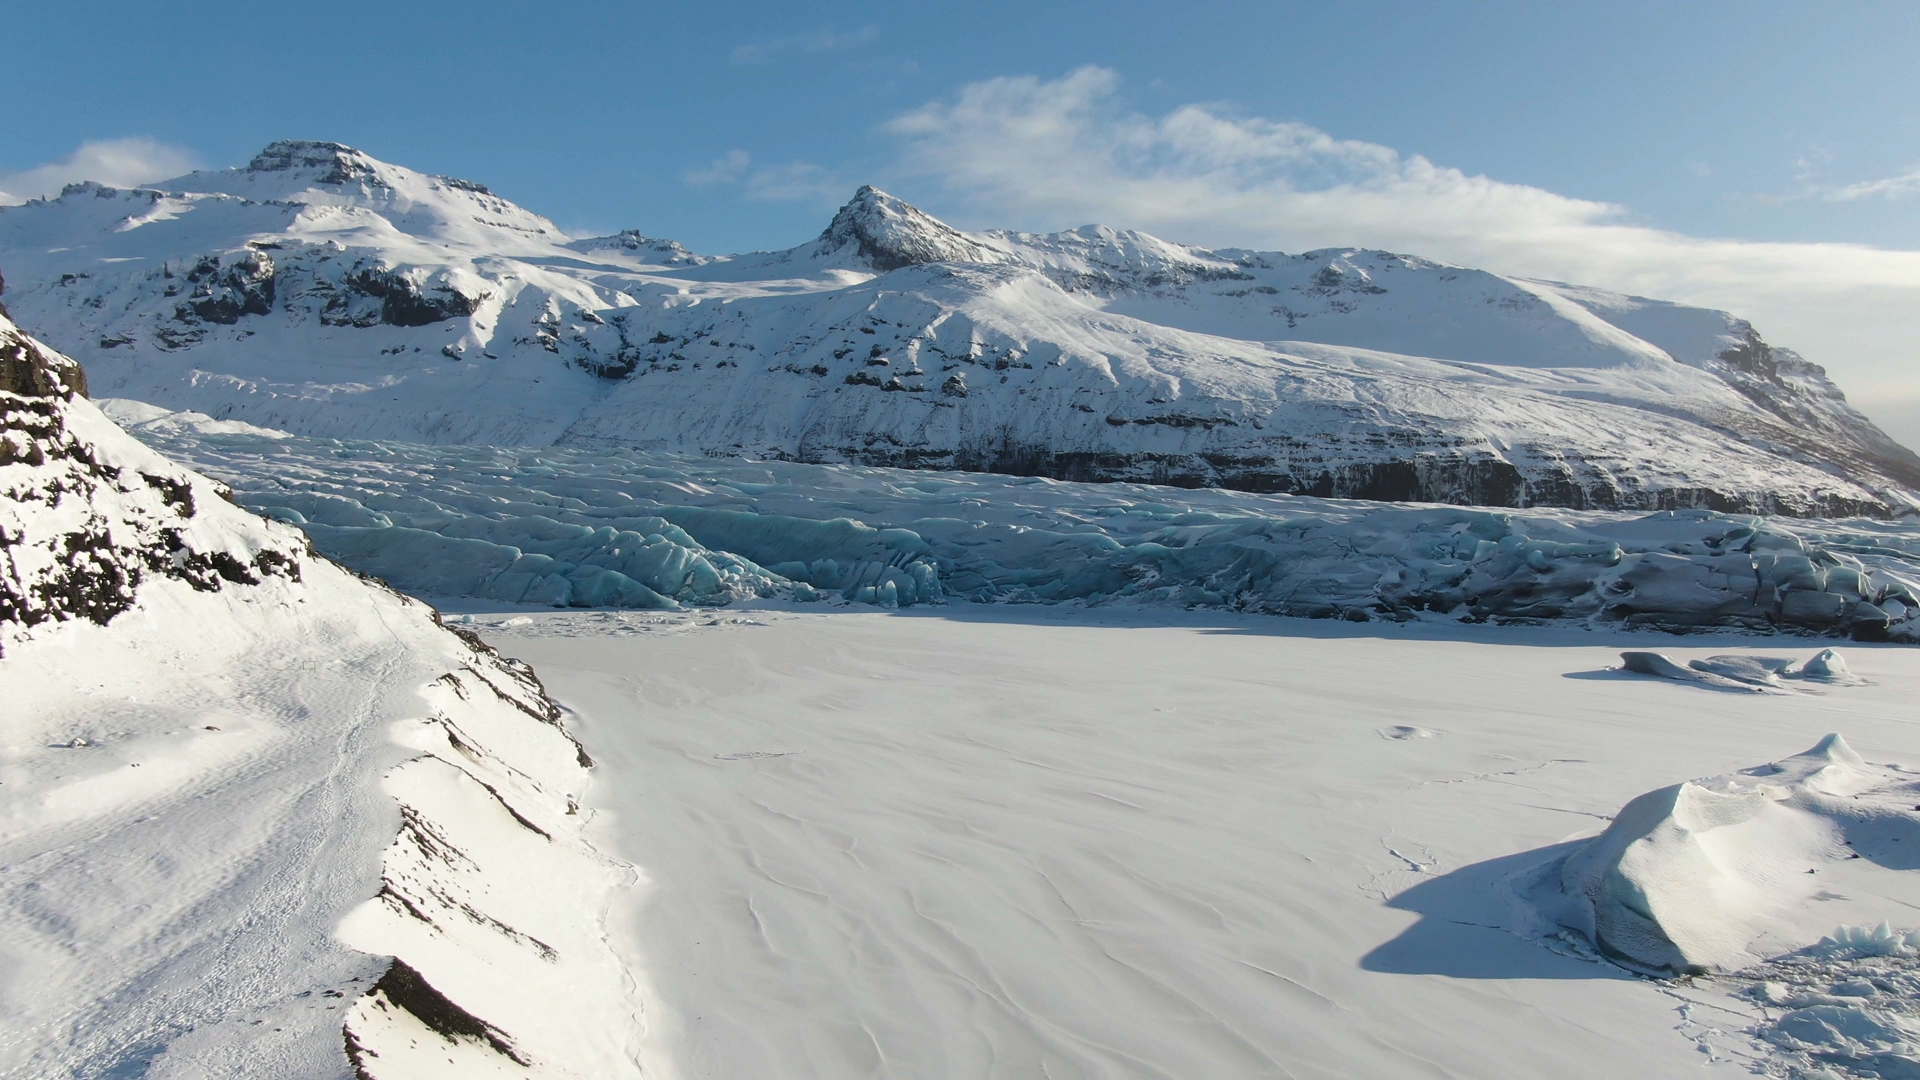
[[[0,1072],[632,1074],[534,675],[83,386],[0,317]]]

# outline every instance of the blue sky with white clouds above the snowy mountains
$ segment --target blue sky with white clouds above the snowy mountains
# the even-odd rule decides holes
[[[4,192],[300,136],[707,252],[860,183],[1388,246],[1732,307],[1920,434],[1914,4],[77,8],[8,15]]]

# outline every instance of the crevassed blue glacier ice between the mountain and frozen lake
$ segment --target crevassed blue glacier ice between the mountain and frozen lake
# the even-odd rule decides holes
[[[152,446],[397,588],[672,609],[837,594],[1920,642],[1920,521],[1490,511],[636,452],[294,438],[138,402]]]

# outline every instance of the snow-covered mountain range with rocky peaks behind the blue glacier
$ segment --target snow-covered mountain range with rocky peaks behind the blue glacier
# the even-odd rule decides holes
[[[324,142],[0,209],[100,392],[300,434],[1482,505],[1920,505],[1745,321],[1365,250],[958,233],[874,188],[783,252],[564,236]]]

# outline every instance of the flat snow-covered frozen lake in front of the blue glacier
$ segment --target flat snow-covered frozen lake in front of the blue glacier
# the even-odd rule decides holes
[[[478,615],[599,761],[659,1076],[1747,1074],[1755,1007],[1500,926],[1503,867],[1843,732],[1862,686],[1605,675],[1805,640],[950,605]],[[1845,903],[1839,903],[1845,899]],[[1836,922],[1912,924],[1908,896]],[[1874,917],[1874,919],[1878,919]]]

